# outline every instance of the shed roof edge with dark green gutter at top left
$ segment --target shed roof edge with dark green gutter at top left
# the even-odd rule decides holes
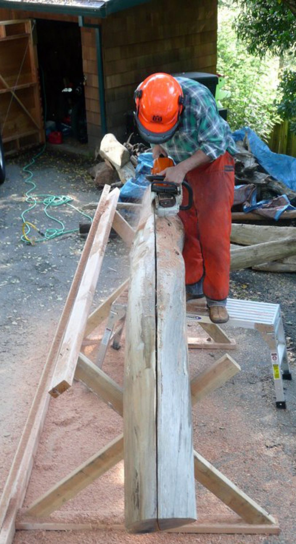
[[[0,0],[0,8],[23,11],[39,11],[40,13],[55,13],[61,15],[84,15],[85,17],[108,17],[117,11],[133,8],[150,0],[105,0],[93,1],[77,0],[74,4],[60,2],[42,2],[34,0]]]

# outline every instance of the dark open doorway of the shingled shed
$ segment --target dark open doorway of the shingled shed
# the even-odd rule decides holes
[[[36,21],[46,135],[51,143],[87,143],[81,34],[78,24]]]

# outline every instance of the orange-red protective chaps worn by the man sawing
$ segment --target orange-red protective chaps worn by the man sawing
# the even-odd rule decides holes
[[[234,201],[234,159],[226,152],[188,172],[193,206],[179,212],[185,228],[185,282],[204,278],[204,295],[224,300],[229,292],[231,206]],[[186,189],[183,204],[187,203]]]

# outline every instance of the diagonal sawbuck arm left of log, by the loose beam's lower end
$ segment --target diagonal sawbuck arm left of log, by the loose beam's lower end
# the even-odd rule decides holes
[[[75,379],[83,381],[91,391],[99,395],[120,416],[123,414],[123,391],[112,378],[83,353],[79,354]]]

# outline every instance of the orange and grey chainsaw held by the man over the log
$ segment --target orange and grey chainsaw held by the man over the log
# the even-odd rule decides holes
[[[146,176],[147,180],[151,182],[151,192],[154,193],[155,213],[159,217],[169,217],[170,215],[177,215],[180,210],[190,209],[193,202],[193,193],[190,185],[183,181],[181,185],[177,185],[172,182],[165,182],[165,176],[157,174],[174,166],[172,159],[168,157],[160,156],[154,161],[152,174]],[[188,204],[181,206],[182,202],[182,188],[186,188],[188,192]]]

